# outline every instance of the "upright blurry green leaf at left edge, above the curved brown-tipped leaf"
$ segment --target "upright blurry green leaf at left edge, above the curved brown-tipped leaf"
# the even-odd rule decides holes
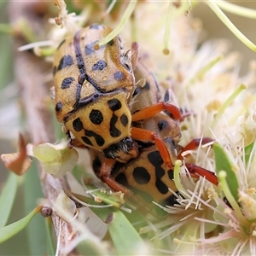
[[[9,178],[5,183],[0,194],[0,228],[5,226],[8,221],[9,214],[15,201],[15,195],[18,187],[18,176],[13,172],[9,173]]]

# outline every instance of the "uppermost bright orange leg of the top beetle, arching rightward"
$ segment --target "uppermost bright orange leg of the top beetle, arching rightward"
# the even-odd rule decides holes
[[[143,119],[149,119],[154,117],[157,113],[165,110],[172,114],[173,119],[183,121],[183,114],[180,112],[179,108],[167,102],[159,102],[148,106],[147,108],[143,108],[137,113],[133,113],[131,115],[131,120],[139,121]]]

